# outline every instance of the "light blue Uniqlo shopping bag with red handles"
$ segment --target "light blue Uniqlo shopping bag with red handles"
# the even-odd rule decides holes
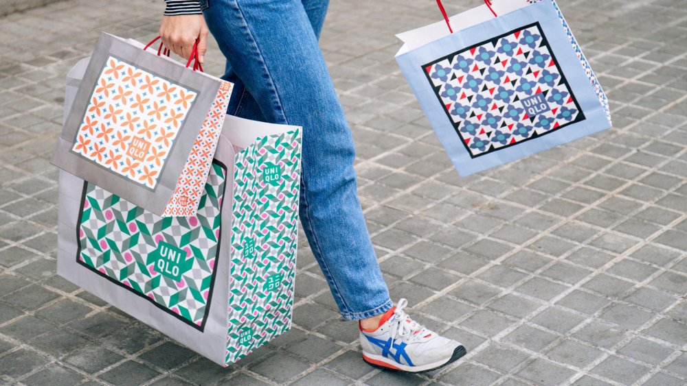
[[[467,176],[611,127],[608,101],[554,0],[493,0],[398,34],[396,60]]]

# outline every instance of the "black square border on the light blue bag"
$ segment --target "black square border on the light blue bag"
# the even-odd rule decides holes
[[[492,149],[488,150],[487,152],[483,152],[483,153],[477,154],[475,156],[472,154],[472,152],[470,151],[470,147],[465,143],[463,136],[460,134],[459,128],[460,128],[460,125],[463,121],[460,121],[458,123],[453,122],[453,119],[451,118],[451,112],[449,112],[449,109],[446,108],[446,106],[444,105],[444,101],[442,101],[441,96],[439,95],[439,90],[441,89],[441,86],[434,86],[434,82],[432,82],[431,77],[429,77],[429,73],[427,73],[427,71],[425,69],[427,68],[427,66],[433,66],[434,64],[437,64],[438,62],[441,62],[442,60],[449,59],[449,61],[450,61],[454,56],[460,55],[460,53],[463,53],[465,51],[469,51],[470,49],[473,49],[475,47],[480,47],[481,45],[484,45],[485,43],[497,43],[497,40],[499,40],[500,38],[503,38],[504,36],[508,36],[510,34],[517,32],[517,31],[521,31],[523,29],[530,28],[530,27],[537,27],[537,29],[539,29],[539,33],[541,34],[541,38],[542,38],[541,44],[545,45],[546,48],[548,48],[549,53],[551,54],[551,58],[552,58],[552,60],[554,60],[554,64],[556,64],[556,69],[558,69],[559,75],[561,75],[561,81],[565,83],[565,86],[567,86],[567,90],[570,92],[570,96],[572,97],[572,101],[574,102],[575,107],[577,108],[579,114],[576,117],[576,119],[574,119],[574,121],[567,122],[563,125],[560,125],[557,128],[548,130],[544,134],[537,134],[536,132],[534,132],[534,133],[532,133],[532,136],[530,136],[529,138],[525,138],[522,141],[518,141],[516,143],[509,143],[508,145],[504,145],[502,147],[499,147],[498,149],[494,149],[492,147]],[[434,95],[436,95],[437,99],[439,100],[439,104],[444,109],[444,112],[446,112],[447,117],[449,118],[449,123],[451,123],[451,126],[453,126],[453,130],[455,130],[455,134],[458,134],[459,142],[462,143],[462,145],[465,147],[465,150],[468,153],[468,155],[470,156],[470,158],[473,158],[473,159],[477,158],[477,157],[485,156],[486,154],[498,152],[499,150],[506,149],[506,148],[511,147],[511,146],[525,143],[527,141],[530,141],[530,139],[541,138],[542,136],[545,136],[546,134],[550,134],[550,133],[555,132],[557,130],[561,130],[562,128],[565,128],[568,125],[572,125],[573,123],[580,123],[580,122],[585,121],[587,119],[587,117],[585,116],[585,112],[583,112],[580,104],[577,101],[577,97],[575,97],[575,94],[572,92],[572,87],[567,82],[567,78],[565,77],[565,74],[563,73],[563,69],[561,69],[561,65],[559,64],[559,61],[556,59],[556,56],[554,55],[554,51],[553,51],[552,47],[549,45],[548,38],[546,38],[544,31],[541,28],[541,25],[539,24],[538,21],[531,23],[531,24],[528,24],[528,25],[524,25],[523,27],[517,27],[516,29],[513,29],[510,32],[506,32],[505,34],[501,34],[499,36],[496,36],[495,38],[484,40],[480,43],[477,43],[475,45],[471,45],[470,47],[466,47],[466,48],[461,49],[459,51],[449,53],[449,55],[447,55],[447,56],[443,56],[442,58],[439,58],[437,60],[433,60],[427,64],[424,64],[422,67],[420,67],[420,69],[423,73],[425,73],[425,76],[427,77],[427,81],[429,82],[429,86],[431,86],[432,91],[434,91]]]

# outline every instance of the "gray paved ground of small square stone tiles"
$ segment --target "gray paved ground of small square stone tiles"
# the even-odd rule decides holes
[[[469,349],[422,375],[361,361],[304,237],[293,330],[226,369],[56,276],[48,159],[65,74],[101,29],[149,40],[162,1],[68,0],[0,19],[0,383],[687,384],[687,1],[560,5],[615,128],[463,179],[394,61],[395,32],[440,19],[433,1],[330,7],[322,49],[392,296]],[[221,73],[214,45],[208,57]]]

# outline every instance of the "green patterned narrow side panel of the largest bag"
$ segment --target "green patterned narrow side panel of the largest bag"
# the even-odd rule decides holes
[[[264,136],[236,155],[227,363],[291,328],[300,141]]]

